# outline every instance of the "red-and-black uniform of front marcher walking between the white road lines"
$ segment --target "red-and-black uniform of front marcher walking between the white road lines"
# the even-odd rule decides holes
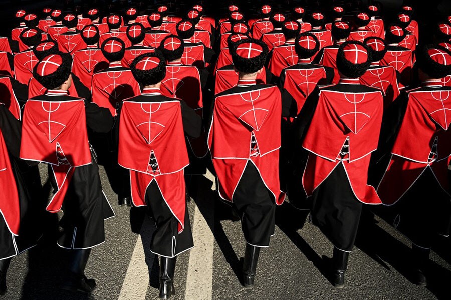
[[[200,129],[194,110],[159,89],[144,89],[122,104],[118,162],[130,170],[133,204],[149,207],[153,215],[157,229],[150,250],[162,257],[173,258],[193,247],[185,202],[183,170],[189,159],[184,136],[198,137]]]

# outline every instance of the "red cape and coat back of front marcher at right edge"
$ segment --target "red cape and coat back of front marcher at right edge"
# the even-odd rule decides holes
[[[427,166],[448,192],[447,167],[451,156],[449,95],[450,91],[440,90],[409,93],[407,109],[393,145],[393,156],[378,189],[385,204],[395,203]],[[438,151],[430,157],[435,140]]]

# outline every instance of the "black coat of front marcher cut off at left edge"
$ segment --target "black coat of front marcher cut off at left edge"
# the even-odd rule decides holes
[[[36,245],[42,235],[42,218],[45,200],[38,167],[30,167],[19,159],[21,144],[21,123],[14,118],[5,105],[0,105],[0,130],[5,139],[13,175],[19,193],[20,228],[19,236],[13,237],[5,220],[0,217],[0,259],[19,254]],[[8,200],[8,199],[3,199]],[[13,243],[16,243],[17,250]]]

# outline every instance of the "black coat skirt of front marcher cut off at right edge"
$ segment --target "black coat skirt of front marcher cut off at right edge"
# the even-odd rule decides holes
[[[396,229],[412,243],[430,248],[437,234],[449,235],[451,197],[428,167],[393,207]]]

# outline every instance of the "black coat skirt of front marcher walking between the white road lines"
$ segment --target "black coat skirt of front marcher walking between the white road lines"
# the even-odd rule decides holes
[[[185,210],[185,227],[179,234],[178,221],[169,210],[155,180],[146,190],[145,201],[148,213],[152,216],[157,228],[153,232],[150,243],[150,250],[153,253],[172,258],[194,246],[188,207]]]

